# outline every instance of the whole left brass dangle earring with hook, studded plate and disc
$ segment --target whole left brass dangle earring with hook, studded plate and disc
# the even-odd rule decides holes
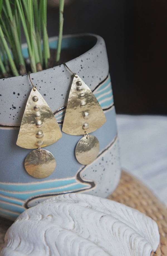
[[[46,149],[62,137],[59,125],[48,104],[33,86],[21,121],[16,144],[31,151],[24,161],[26,171],[35,178],[48,177],[56,167],[54,156]]]

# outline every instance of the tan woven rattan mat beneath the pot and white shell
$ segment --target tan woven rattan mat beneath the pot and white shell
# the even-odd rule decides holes
[[[151,256],[167,256],[167,208],[147,187],[129,173],[122,171],[120,183],[109,199],[135,208],[155,220],[159,227],[160,243]],[[0,251],[4,245],[5,233],[12,223],[0,218]]]

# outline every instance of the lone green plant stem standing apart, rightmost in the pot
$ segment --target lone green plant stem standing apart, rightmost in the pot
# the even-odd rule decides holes
[[[59,4],[59,35],[58,35],[58,46],[57,46],[57,54],[56,54],[56,61],[60,60],[60,52],[62,46],[62,34],[63,34],[63,10],[64,10],[64,0],[60,0]]]

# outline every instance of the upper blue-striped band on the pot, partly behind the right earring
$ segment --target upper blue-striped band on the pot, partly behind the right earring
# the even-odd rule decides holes
[[[108,75],[107,79],[102,84],[93,90],[93,93],[104,111],[114,105],[110,75]],[[64,116],[65,109],[62,109],[55,114],[55,118],[59,123],[64,120]]]

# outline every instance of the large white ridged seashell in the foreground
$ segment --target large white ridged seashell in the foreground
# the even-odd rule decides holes
[[[71,193],[21,213],[6,233],[1,256],[149,256],[158,244],[158,226],[145,214],[109,199]]]

